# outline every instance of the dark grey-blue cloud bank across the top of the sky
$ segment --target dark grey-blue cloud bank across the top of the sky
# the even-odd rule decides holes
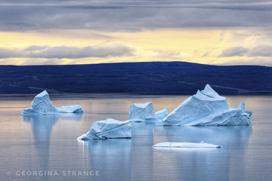
[[[267,1],[18,1],[0,3],[1,31],[92,29],[141,31],[157,28],[269,27]]]

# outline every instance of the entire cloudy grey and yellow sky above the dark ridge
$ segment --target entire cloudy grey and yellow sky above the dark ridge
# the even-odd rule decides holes
[[[272,2],[1,0],[0,65],[272,66]]]

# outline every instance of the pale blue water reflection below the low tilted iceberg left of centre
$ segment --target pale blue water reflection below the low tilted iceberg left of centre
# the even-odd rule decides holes
[[[103,177],[96,179],[129,180],[131,173],[131,138],[110,138],[101,140],[77,140],[83,153],[88,154],[90,170],[99,170]],[[85,155],[86,156],[86,155]]]

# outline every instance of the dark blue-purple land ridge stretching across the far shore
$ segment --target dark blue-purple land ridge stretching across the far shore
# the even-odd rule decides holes
[[[0,94],[272,91],[272,67],[190,62],[0,65]]]

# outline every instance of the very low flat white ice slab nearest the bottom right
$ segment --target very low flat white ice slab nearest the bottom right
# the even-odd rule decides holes
[[[189,143],[189,142],[163,142],[153,145],[152,147],[186,147],[186,148],[219,148],[220,145],[204,143]]]

